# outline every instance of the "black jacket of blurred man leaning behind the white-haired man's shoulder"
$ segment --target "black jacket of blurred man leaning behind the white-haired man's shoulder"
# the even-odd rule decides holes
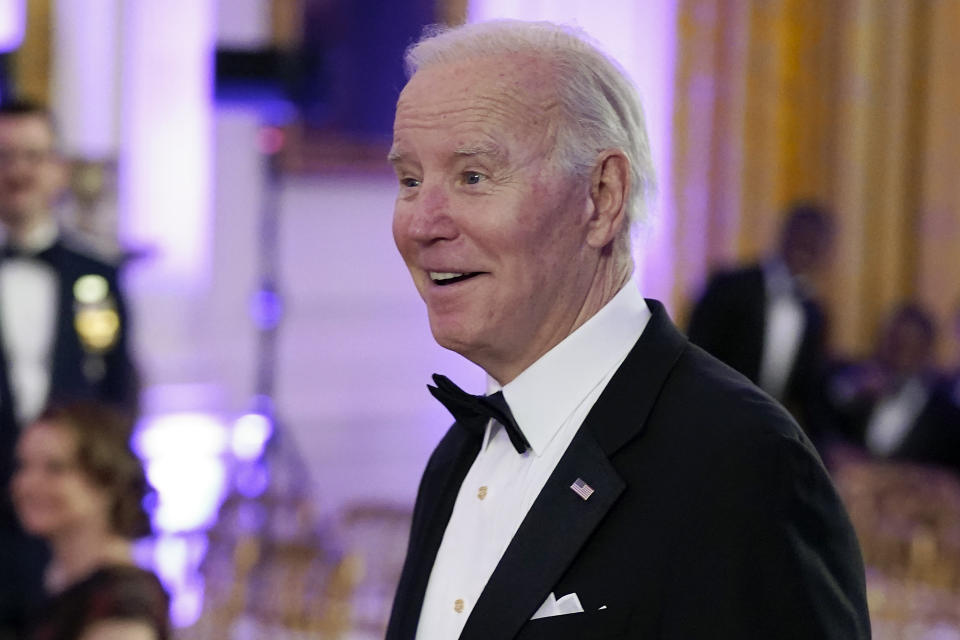
[[[826,320],[823,310],[803,298],[804,331],[781,402],[808,430],[821,419]],[[721,271],[710,278],[690,315],[691,342],[751,381],[760,378],[766,331],[767,290],[759,264]],[[817,433],[810,433],[817,437]]]

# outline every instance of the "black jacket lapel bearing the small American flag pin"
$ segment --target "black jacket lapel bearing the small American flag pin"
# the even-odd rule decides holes
[[[654,300],[647,304],[652,312],[647,327],[524,518],[460,640],[513,638],[625,489],[610,456],[642,431],[660,388],[688,344],[663,305]],[[594,490],[586,500],[570,488],[578,478]]]

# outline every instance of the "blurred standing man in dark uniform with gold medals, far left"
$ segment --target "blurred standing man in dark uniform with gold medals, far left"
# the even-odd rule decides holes
[[[117,268],[58,228],[65,186],[50,115],[0,105],[0,638],[41,596],[46,559],[10,504],[20,427],[50,402],[97,399],[130,414],[137,405]]]

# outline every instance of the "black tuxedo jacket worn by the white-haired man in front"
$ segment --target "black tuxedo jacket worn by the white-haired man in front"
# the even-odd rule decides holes
[[[463,640],[869,638],[853,529],[782,408],[653,317],[504,553]],[[414,637],[479,450],[454,424],[417,496],[388,640]],[[582,478],[595,492],[569,487]],[[530,620],[549,593],[584,613]],[[605,607],[601,609],[601,607]]]

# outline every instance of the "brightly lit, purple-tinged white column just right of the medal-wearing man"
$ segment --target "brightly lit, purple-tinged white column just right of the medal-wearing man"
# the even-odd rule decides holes
[[[78,3],[82,4],[82,3]],[[120,239],[153,291],[209,284],[214,0],[123,4]]]

